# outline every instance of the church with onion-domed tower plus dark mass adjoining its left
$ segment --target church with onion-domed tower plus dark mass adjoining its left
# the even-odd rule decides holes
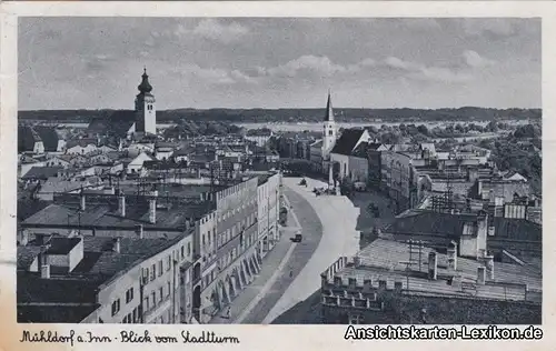
[[[93,119],[87,131],[92,136],[115,137],[129,139],[131,137],[149,137],[157,134],[156,99],[152,86],[149,83],[147,69],[141,76],[141,83],[137,87],[135,110],[110,111],[108,114]]]

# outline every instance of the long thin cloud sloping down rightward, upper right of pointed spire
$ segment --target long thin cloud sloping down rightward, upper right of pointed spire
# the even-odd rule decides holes
[[[417,62],[405,61],[399,58],[388,57],[384,64],[389,69],[403,71],[406,78],[424,81],[438,82],[467,82],[473,76],[466,72],[458,72],[444,67],[427,67]]]

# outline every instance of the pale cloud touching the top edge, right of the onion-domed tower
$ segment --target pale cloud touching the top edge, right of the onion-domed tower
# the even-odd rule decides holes
[[[249,33],[249,28],[238,23],[222,23],[217,19],[203,19],[193,29],[178,24],[173,33],[178,37],[197,36],[200,38],[230,43]]]

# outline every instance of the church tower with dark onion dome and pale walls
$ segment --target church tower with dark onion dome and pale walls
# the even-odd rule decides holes
[[[142,81],[137,87],[139,93],[136,97],[136,131],[145,133],[157,133],[157,108],[155,96],[151,93],[152,86],[149,83],[147,68],[142,73]]]

